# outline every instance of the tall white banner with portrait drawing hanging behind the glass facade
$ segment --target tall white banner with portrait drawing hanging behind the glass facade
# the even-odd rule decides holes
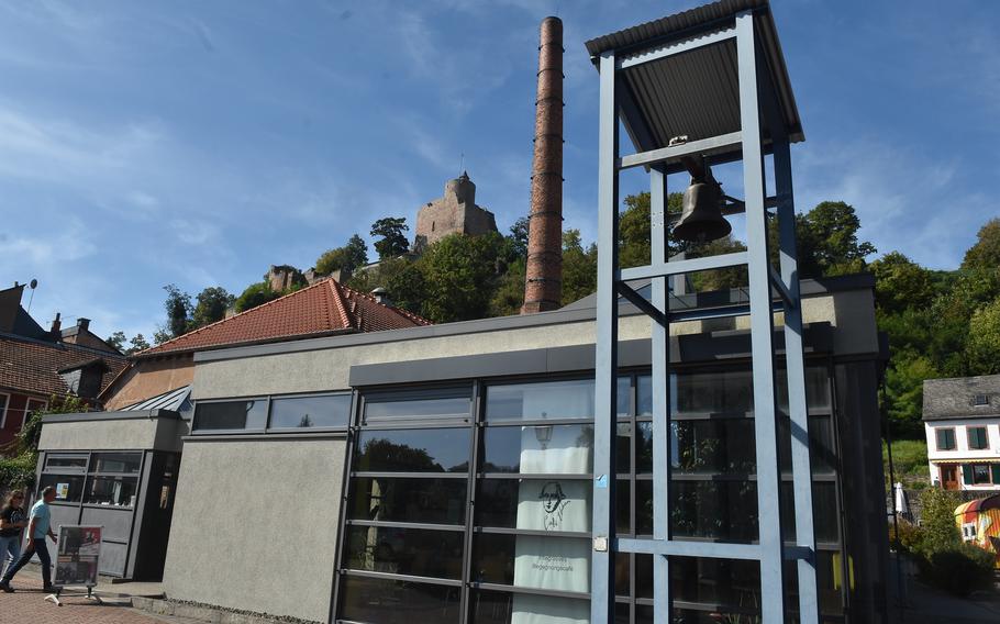
[[[525,393],[524,413],[559,417],[587,410],[575,405],[578,393]],[[518,528],[552,532],[590,531],[591,483],[584,478],[593,461],[590,425],[521,427],[521,472],[580,475],[580,478],[524,479],[518,493]],[[575,537],[519,535],[514,584],[538,589],[590,591],[590,541]],[[590,621],[584,600],[514,593],[511,624],[582,624]]]

